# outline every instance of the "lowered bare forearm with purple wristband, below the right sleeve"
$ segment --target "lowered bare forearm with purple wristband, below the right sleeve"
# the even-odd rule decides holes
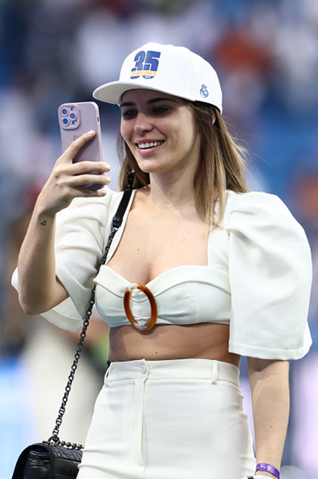
[[[280,469],[287,431],[290,393],[289,364],[248,358],[253,419],[256,436],[256,461]],[[260,472],[263,475],[269,473]]]

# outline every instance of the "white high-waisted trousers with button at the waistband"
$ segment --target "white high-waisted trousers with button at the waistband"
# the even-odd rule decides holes
[[[111,363],[77,479],[253,475],[238,368],[207,359]]]

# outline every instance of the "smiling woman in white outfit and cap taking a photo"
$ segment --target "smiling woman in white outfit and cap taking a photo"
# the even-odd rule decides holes
[[[111,365],[78,478],[278,478],[288,360],[311,343],[305,233],[280,199],[248,192],[219,80],[198,55],[143,45],[119,82],[94,97],[121,108],[121,188],[136,172],[107,263],[98,272],[121,193],[80,188],[96,181],[92,166],[72,164],[94,132],[57,160],[18,260],[26,312],[75,330],[96,282],[97,308],[111,327]],[[94,170],[107,185],[109,165]],[[136,284],[146,285],[157,314]],[[146,329],[150,316],[156,322]],[[256,459],[238,385],[242,355]]]

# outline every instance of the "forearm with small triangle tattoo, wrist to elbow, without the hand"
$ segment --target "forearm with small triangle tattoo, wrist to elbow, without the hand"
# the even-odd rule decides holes
[[[35,204],[18,256],[19,301],[28,314],[48,311],[67,296],[55,277],[55,214]]]

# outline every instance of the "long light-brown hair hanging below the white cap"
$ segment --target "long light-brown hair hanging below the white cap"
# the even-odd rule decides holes
[[[221,113],[213,105],[202,101],[189,101],[200,132],[201,153],[194,175],[194,202],[200,218],[210,227],[218,226],[224,215],[226,189],[236,193],[248,192],[246,183],[246,148],[232,137]],[[127,186],[128,172],[135,172],[133,187],[141,188],[150,183],[148,173],[143,172],[131,150],[119,134],[117,141],[121,172],[119,188]],[[215,208],[218,202],[218,208]]]

